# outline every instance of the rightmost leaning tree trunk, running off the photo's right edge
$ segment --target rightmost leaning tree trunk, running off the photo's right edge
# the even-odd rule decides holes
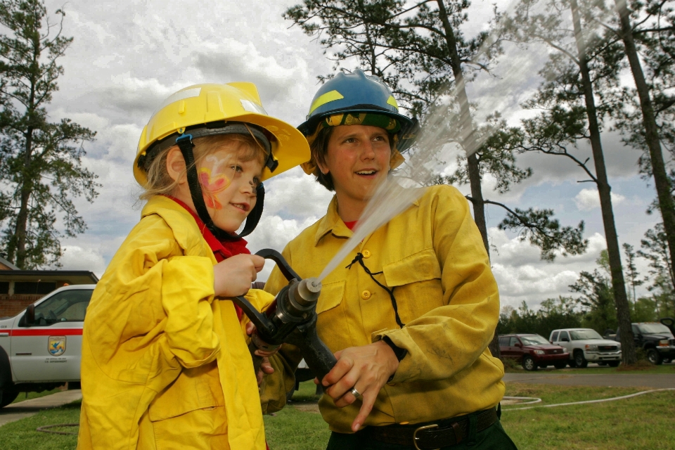
[[[661,210],[663,229],[666,232],[666,239],[668,241],[670,261],[671,264],[675,264],[675,204],[671,195],[670,180],[668,179],[663,162],[656,115],[652,99],[650,98],[649,86],[645,81],[645,75],[635,46],[635,40],[633,39],[630,12],[626,5],[626,0],[615,0],[615,4],[617,6],[617,13],[619,13],[621,37],[624,41],[626,56],[631,65],[631,72],[633,72],[633,79],[638,90],[638,98],[640,98],[642,120],[645,127],[645,142],[649,149],[654,186],[656,186],[656,193],[659,198],[659,209]]]

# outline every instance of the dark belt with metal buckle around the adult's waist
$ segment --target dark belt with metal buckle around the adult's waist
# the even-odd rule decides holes
[[[476,432],[489,428],[497,420],[494,408],[477,413]],[[440,449],[459,444],[469,435],[469,418],[461,416],[416,425],[368,427],[366,430],[371,432],[373,439],[387,444],[415,446],[418,450]]]

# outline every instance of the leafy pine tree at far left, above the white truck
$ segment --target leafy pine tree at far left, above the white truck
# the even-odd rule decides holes
[[[96,174],[82,167],[84,141],[95,133],[70,119],[49,122],[46,105],[58,90],[57,60],[72,42],[49,21],[39,0],[0,1],[0,219],[7,259],[21,269],[57,265],[60,236],[86,229],[72,198],[90,202]],[[64,230],[57,229],[63,214]]]

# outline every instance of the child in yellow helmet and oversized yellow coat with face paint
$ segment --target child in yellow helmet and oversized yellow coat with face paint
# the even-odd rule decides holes
[[[265,449],[251,326],[226,297],[273,299],[249,290],[264,259],[241,236],[262,181],[307,160],[250,83],[190,86],[153,115],[134,161],[148,203],[84,321],[79,449]]]

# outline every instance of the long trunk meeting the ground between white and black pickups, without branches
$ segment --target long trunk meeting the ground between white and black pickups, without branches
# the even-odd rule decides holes
[[[588,60],[586,58],[586,42],[581,34],[581,19],[579,18],[579,6],[577,5],[577,0],[571,0],[570,4],[572,6],[572,20],[574,22],[574,37],[577,41],[577,51],[579,53],[581,82],[584,86],[586,115],[589,118],[591,150],[593,151],[593,162],[596,166],[596,184],[598,185],[600,207],[603,212],[605,240],[607,240],[607,252],[610,262],[610,272],[612,274],[612,290],[614,290],[614,302],[617,307],[617,319],[619,322],[619,330],[621,331],[619,334],[621,335],[622,359],[626,365],[635,364],[637,362],[637,357],[633,340],[633,330],[631,327],[631,309],[628,303],[628,297],[626,297],[626,284],[624,281],[624,272],[621,267],[621,250],[619,250],[619,238],[617,237],[614,211],[612,210],[612,189],[607,180],[605,156],[603,155],[603,145],[600,141],[600,127],[598,126],[596,103],[593,98],[593,84],[591,82]]]

